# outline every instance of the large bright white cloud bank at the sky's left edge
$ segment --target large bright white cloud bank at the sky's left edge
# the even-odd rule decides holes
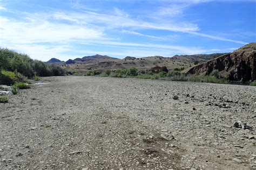
[[[97,39],[103,32],[81,25],[50,23],[48,20],[18,21],[0,17],[2,40],[8,43],[59,42],[79,39]]]

